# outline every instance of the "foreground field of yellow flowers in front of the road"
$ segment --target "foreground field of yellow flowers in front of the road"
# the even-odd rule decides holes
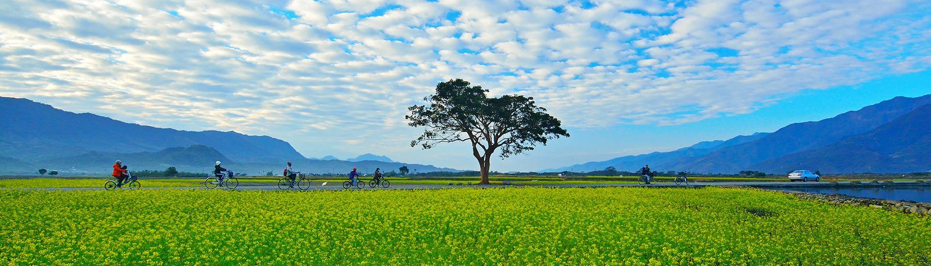
[[[931,219],[752,189],[0,190],[12,264],[927,264]]]

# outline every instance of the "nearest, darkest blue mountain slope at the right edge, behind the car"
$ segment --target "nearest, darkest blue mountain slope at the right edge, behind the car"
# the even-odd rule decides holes
[[[785,173],[909,173],[931,171],[931,104],[866,133],[802,153],[770,159],[752,169]]]

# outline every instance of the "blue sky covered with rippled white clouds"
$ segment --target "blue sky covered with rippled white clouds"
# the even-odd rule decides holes
[[[533,97],[572,137],[492,163],[528,171],[771,132],[931,94],[931,2],[4,1],[0,96],[307,157],[412,148],[407,107],[462,78]]]

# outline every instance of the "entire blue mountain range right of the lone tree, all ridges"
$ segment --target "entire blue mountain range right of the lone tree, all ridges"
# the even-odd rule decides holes
[[[897,97],[828,119],[785,126],[773,133],[705,141],[673,152],[624,156],[545,171],[591,171],[607,166],[636,170],[643,165],[698,173],[929,171],[927,155],[919,152],[931,147],[923,139],[927,133],[921,130],[931,125],[931,115],[924,113],[929,104],[931,95]]]

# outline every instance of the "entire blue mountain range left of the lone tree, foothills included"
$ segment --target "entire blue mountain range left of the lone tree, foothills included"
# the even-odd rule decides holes
[[[385,171],[408,166],[419,172],[458,171],[403,164],[371,153],[355,161],[308,159],[284,140],[234,131],[184,131],[142,126],[92,113],[71,113],[26,99],[0,97],[0,173],[32,173],[39,167],[62,173],[103,173],[115,159],[131,169],[206,172],[215,161],[239,172],[257,174],[284,168],[306,173],[344,173],[351,168]]]

